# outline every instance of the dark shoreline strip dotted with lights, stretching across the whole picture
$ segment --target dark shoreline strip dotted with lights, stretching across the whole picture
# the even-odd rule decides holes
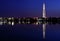
[[[0,25],[3,24],[8,24],[8,25],[14,25],[14,24],[42,24],[42,23],[59,23],[60,18],[42,18],[42,17],[34,17],[34,18],[30,18],[30,17],[23,17],[23,18],[14,18],[14,17],[0,17]]]

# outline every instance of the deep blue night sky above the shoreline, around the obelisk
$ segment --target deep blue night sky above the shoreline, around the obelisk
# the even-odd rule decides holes
[[[60,0],[44,0],[47,16],[60,16]],[[0,17],[41,17],[43,0],[0,0]]]

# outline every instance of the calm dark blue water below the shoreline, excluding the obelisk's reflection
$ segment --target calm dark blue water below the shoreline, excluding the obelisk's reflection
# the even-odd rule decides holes
[[[3,25],[0,26],[0,41],[59,41],[60,24],[46,27],[46,38],[43,39],[42,25]]]

